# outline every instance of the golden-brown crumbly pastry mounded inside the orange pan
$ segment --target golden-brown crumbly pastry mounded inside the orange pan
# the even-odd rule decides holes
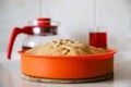
[[[81,41],[72,41],[70,39],[50,41],[25,51],[27,54],[35,55],[84,55],[106,52],[106,49],[95,48]]]

